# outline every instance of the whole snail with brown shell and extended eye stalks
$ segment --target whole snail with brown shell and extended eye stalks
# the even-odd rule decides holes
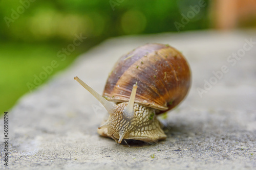
[[[103,96],[78,77],[105,107],[109,118],[98,133],[121,143],[123,139],[156,142],[166,138],[157,115],[177,106],[190,87],[190,69],[174,47],[150,43],[123,55],[106,81]]]

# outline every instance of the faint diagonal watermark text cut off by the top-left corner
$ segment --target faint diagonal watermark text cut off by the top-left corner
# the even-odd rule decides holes
[[[7,27],[10,27],[10,23],[17,20],[19,16],[22,15],[25,12],[25,10],[30,7],[31,3],[35,1],[36,0],[20,0],[20,6],[18,6],[16,10],[13,8],[11,9],[11,17],[4,17]]]

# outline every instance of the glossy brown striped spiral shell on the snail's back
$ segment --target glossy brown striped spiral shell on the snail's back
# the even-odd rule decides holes
[[[185,98],[190,87],[190,69],[174,47],[145,44],[117,61],[103,96],[112,102],[127,102],[136,82],[135,102],[164,112]]]

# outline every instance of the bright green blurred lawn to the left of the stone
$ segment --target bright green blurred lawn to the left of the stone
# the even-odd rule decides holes
[[[29,92],[27,83],[34,84],[34,75],[39,76],[50,66],[53,60],[58,67],[53,68],[42,84],[56,72],[66,68],[72,61],[89,47],[78,46],[74,52],[61,61],[57,52],[69,43],[13,43],[0,42],[0,115],[9,111],[23,94]]]

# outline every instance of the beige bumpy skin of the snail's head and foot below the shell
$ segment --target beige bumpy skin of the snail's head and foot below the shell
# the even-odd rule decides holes
[[[127,119],[122,112],[127,104],[127,102],[123,102],[117,105],[115,114],[110,115],[107,120],[108,128],[98,130],[100,135],[112,137],[116,142],[118,142],[120,133],[125,134],[124,139],[144,142],[155,142],[166,138],[161,124],[156,118],[156,109],[134,104],[135,115],[132,119]]]

